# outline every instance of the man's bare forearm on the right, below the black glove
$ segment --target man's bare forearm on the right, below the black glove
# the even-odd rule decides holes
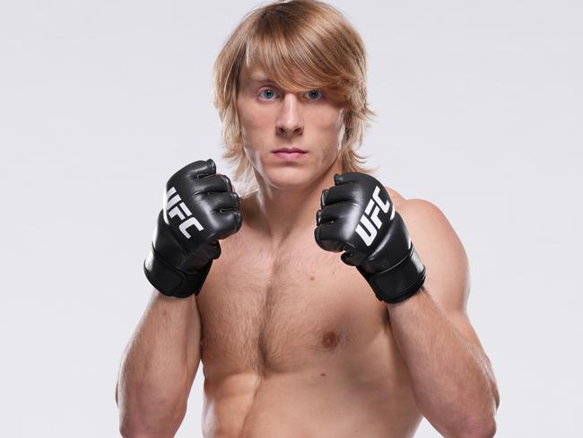
[[[423,416],[444,436],[492,435],[496,402],[490,364],[424,289],[387,309]]]

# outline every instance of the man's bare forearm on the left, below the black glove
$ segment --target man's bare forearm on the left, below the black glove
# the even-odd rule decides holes
[[[186,413],[189,391],[188,327],[193,297],[154,292],[122,359],[117,383],[120,431],[124,436],[174,436]],[[189,355],[189,356],[188,356]],[[196,369],[195,369],[196,372]]]

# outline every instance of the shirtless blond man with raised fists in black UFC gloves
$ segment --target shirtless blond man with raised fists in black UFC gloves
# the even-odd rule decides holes
[[[239,197],[212,160],[170,178],[117,382],[123,436],[174,436],[201,360],[208,437],[410,437],[422,416],[444,436],[495,433],[462,243],[354,152],[365,74],[326,4],[267,4],[233,31],[215,103],[256,189]]]

